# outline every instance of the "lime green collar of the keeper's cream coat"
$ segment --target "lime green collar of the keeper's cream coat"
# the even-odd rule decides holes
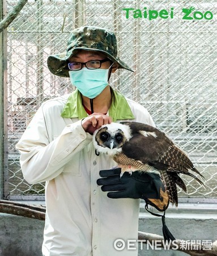
[[[109,108],[109,116],[112,117],[113,122],[117,120],[134,119],[130,106],[122,94],[112,89],[112,104]],[[82,105],[82,94],[78,89],[72,92],[64,106],[61,117],[65,118],[79,118],[87,117],[87,113]]]

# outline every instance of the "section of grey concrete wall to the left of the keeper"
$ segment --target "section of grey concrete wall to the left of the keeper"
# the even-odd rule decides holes
[[[44,221],[0,214],[0,255],[41,256]]]

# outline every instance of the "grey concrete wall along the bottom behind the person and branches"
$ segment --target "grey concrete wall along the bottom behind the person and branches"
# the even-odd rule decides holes
[[[209,209],[168,210],[166,224],[176,238],[183,240],[217,240],[216,205]],[[0,214],[0,255],[1,256],[41,256],[44,221]],[[162,235],[160,217],[141,212],[139,230]],[[139,250],[139,256],[184,256],[175,250]],[[103,255],[102,255],[103,256]],[[111,255],[112,256],[112,255]]]

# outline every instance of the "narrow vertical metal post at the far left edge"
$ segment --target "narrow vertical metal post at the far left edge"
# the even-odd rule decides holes
[[[6,1],[0,1],[0,20],[6,14]],[[7,30],[0,33],[0,198],[4,196],[5,168],[7,168]]]

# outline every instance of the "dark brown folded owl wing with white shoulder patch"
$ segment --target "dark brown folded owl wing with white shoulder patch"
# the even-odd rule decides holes
[[[149,164],[160,171],[192,176],[203,185],[202,181],[189,171],[203,176],[194,168],[185,152],[178,148],[165,133],[144,123],[122,123],[129,125],[132,133],[131,139],[122,147],[122,152],[127,157]]]

